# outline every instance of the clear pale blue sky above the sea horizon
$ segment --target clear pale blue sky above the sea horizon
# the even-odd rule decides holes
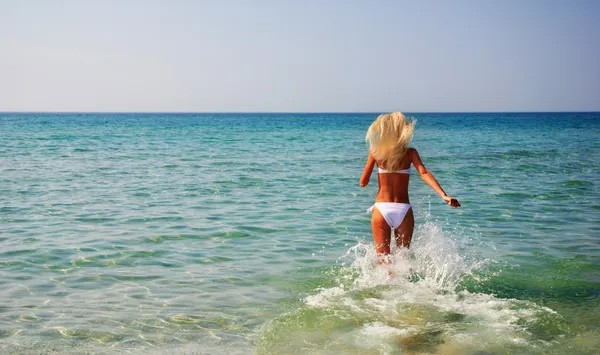
[[[600,1],[0,0],[0,111],[600,111]]]

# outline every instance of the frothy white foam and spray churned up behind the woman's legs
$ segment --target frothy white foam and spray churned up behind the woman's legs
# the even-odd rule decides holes
[[[429,344],[425,350],[433,353],[478,351],[490,344],[535,346],[524,320],[552,310],[459,290],[463,278],[493,262],[459,252],[465,238],[427,221],[416,228],[411,249],[393,250],[385,265],[375,262],[370,243],[359,242],[341,258],[339,285],[319,289],[304,302],[313,309],[351,312],[358,323],[364,320],[351,342],[371,350],[393,351],[382,342]]]

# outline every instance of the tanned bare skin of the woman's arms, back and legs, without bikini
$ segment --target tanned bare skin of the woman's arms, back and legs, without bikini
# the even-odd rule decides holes
[[[375,164],[377,164],[378,167],[385,169],[385,162],[376,161],[371,152],[369,152],[369,158],[367,159],[365,170],[360,178],[361,187],[365,187],[369,184],[369,179],[371,178],[371,173],[373,172]],[[431,172],[425,168],[421,162],[419,153],[414,148],[407,149],[399,169],[408,169],[411,164],[417,169],[419,175],[421,175],[421,179],[423,179],[427,185],[429,185],[438,195],[440,195],[448,205],[454,208],[460,207],[458,200],[448,196],[437,182],[433,174],[431,174]],[[375,202],[410,203],[408,199],[409,178],[409,174],[379,174],[379,191],[377,192]],[[396,228],[394,232],[396,245],[398,247],[408,248],[410,246],[414,227],[415,218],[411,208],[406,213],[402,224],[400,224],[400,226]],[[373,208],[371,228],[373,229],[373,238],[375,240],[375,249],[377,251],[377,255],[388,255],[390,253],[391,229],[377,207]]]

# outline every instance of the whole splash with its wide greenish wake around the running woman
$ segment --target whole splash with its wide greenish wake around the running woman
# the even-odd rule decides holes
[[[568,333],[549,308],[462,289],[466,277],[484,282],[494,262],[470,243],[464,232],[426,220],[411,249],[393,249],[381,265],[373,245],[359,241],[334,269],[335,286],[267,324],[258,352],[544,353]],[[551,336],[536,334],[548,326]]]

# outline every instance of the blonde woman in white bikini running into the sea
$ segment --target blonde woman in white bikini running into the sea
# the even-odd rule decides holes
[[[369,184],[373,167],[377,163],[379,192],[373,212],[371,227],[375,239],[377,255],[390,253],[391,231],[394,230],[398,247],[410,246],[415,219],[408,200],[408,180],[410,165],[414,165],[423,181],[452,207],[460,207],[458,200],[446,195],[433,175],[425,169],[419,153],[408,148],[415,122],[409,122],[400,112],[392,112],[377,117],[367,131],[369,158],[360,179],[360,186]]]

